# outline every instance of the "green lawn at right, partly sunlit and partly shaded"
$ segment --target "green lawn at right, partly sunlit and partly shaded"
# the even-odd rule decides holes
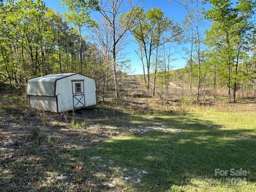
[[[161,116],[161,120],[157,117],[157,120],[154,115],[120,118],[129,126],[165,125],[183,131],[150,131],[116,137],[93,149],[74,151],[71,155],[84,164],[90,163],[87,156],[102,157],[101,161],[95,160],[93,166],[113,161],[102,170],[110,180],[121,175],[134,175],[134,169],[147,171],[139,185],[131,185],[129,181],[120,183],[132,191],[256,190],[255,113],[204,111]],[[214,169],[218,168],[246,170],[249,172],[247,183],[238,186],[227,185],[227,182],[210,183],[209,179],[221,179],[214,176]],[[135,175],[132,179],[136,178]],[[95,179],[100,182],[100,178]],[[186,183],[186,179],[191,182]]]

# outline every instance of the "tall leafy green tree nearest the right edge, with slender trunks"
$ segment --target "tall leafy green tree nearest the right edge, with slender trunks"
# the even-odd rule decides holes
[[[255,3],[237,1],[236,6],[230,0],[210,0],[212,9],[206,11],[206,17],[213,21],[212,28],[206,30],[205,43],[212,50],[210,58],[217,65],[221,83],[233,87],[234,102],[237,83],[245,77],[241,61],[245,61],[253,30],[252,15]],[[211,63],[212,63],[211,61]],[[216,62],[217,61],[217,62]],[[230,97],[229,97],[230,100]]]

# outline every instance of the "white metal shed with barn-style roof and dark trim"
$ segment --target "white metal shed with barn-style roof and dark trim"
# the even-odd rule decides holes
[[[77,73],[46,75],[29,79],[27,95],[30,107],[60,113],[95,105],[96,84]]]

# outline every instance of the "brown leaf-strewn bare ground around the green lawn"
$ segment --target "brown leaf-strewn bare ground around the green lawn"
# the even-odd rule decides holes
[[[125,84],[129,86],[122,100],[107,99],[105,104],[77,110],[74,114],[70,112],[66,117],[65,114],[46,113],[47,125],[42,122],[39,111],[27,107],[22,110],[22,106],[10,107],[9,111],[6,102],[1,101],[5,108],[0,115],[0,190],[89,191],[93,188],[95,191],[120,191],[124,189],[115,187],[122,186],[120,182],[138,185],[147,174],[146,170],[122,170],[112,166],[114,160],[102,162],[101,157],[86,153],[82,156],[87,161],[77,158],[81,151],[90,151],[93,146],[100,146],[113,137],[157,129],[181,131],[166,129],[161,124],[137,126],[127,121],[136,114],[180,113],[183,91],[179,85],[172,83],[171,97],[163,102],[151,98],[137,80],[127,79]],[[189,106],[185,107],[190,110]],[[238,103],[229,104],[209,99],[198,107],[202,109],[253,112],[256,102],[255,99],[239,99]],[[156,121],[161,122],[161,118]],[[106,166],[108,172],[102,171]],[[107,177],[110,172],[119,179]]]

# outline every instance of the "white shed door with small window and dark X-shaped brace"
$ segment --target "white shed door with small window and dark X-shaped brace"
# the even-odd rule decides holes
[[[85,107],[84,81],[83,80],[72,81],[72,92],[73,92],[74,109]]]

